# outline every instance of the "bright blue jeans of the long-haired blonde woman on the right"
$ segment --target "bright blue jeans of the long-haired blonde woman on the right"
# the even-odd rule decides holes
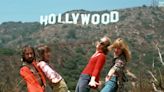
[[[109,81],[105,83],[105,86],[101,90],[101,92],[116,92],[117,88],[118,88],[117,77],[113,76]]]

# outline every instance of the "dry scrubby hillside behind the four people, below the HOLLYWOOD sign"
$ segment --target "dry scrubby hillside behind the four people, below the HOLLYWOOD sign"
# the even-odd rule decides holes
[[[164,57],[164,8],[136,7],[117,10],[120,20],[108,25],[74,25],[54,24],[43,26],[37,22],[5,22],[0,25],[0,91],[17,92],[19,83],[19,68],[21,66],[21,47],[30,44],[48,44],[52,48],[52,65],[64,77],[71,92],[75,89],[80,72],[87,64],[88,58],[94,53],[94,43],[100,37],[108,35],[112,40],[124,38],[132,51],[130,70],[138,77],[136,92],[150,92],[151,76],[147,70],[164,71],[160,63],[156,43]],[[104,11],[73,10],[71,12],[103,13]],[[112,54],[108,55],[102,80],[108,72]],[[12,71],[11,71],[12,70]],[[68,71],[69,70],[69,71]],[[153,71],[154,72],[154,71]],[[164,83],[164,72],[162,82]],[[158,76],[158,73],[155,74]],[[159,79],[159,77],[158,77]],[[9,81],[6,81],[9,80]],[[128,85],[129,86],[129,85]],[[162,85],[164,87],[164,84]],[[129,86],[128,90],[131,89]],[[143,91],[144,90],[144,91]]]

